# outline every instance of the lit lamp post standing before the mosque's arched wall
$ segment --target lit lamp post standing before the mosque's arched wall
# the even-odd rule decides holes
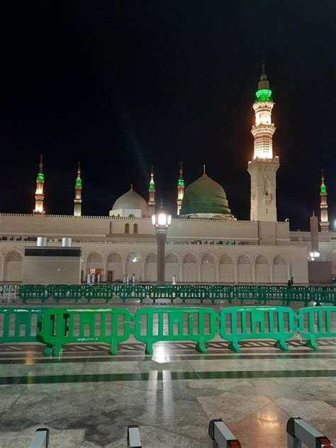
[[[155,226],[157,238],[157,281],[164,281],[164,248],[167,238],[167,230],[172,222],[172,215],[168,215],[163,209],[162,200],[159,205],[159,213],[152,215],[152,224]]]

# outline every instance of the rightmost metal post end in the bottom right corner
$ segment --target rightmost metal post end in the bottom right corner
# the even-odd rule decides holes
[[[330,440],[300,417],[290,418],[287,422],[287,447],[301,448],[304,443],[307,448],[332,448]]]

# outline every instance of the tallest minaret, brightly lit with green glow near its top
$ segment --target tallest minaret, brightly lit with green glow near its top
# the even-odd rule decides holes
[[[251,176],[252,221],[276,221],[276,171],[280,163],[279,157],[273,155],[272,137],[276,129],[271,122],[273,106],[262,62],[262,76],[253,104],[255,123],[251,132],[254,137],[254,154],[247,167]]]

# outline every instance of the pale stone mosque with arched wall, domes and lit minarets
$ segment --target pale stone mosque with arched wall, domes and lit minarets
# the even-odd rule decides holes
[[[336,233],[329,231],[323,177],[320,232],[316,230],[316,216],[310,218],[310,232],[293,232],[288,220],[279,222],[276,218],[280,159],[273,152],[273,106],[263,66],[253,103],[254,155],[247,163],[251,177],[250,220],[234,217],[223,186],[208,176],[206,167],[201,177],[185,188],[181,165],[177,213],[169,225],[165,247],[165,281],[172,281],[176,275],[177,281],[189,283],[286,284],[293,276],[296,284],[306,284],[311,281],[310,274],[318,276],[325,265],[330,269],[327,281],[336,273]],[[65,241],[67,245],[71,241],[80,254],[78,281],[85,281],[89,273],[100,274],[101,281],[108,282],[123,279],[125,273],[134,273],[138,281],[156,281],[157,242],[151,220],[157,207],[153,169],[148,201],[130,186],[106,216],[82,216],[80,166],[74,184],[73,215],[45,213],[44,182],[41,156],[33,213],[0,214],[0,281],[29,282],[25,273],[37,240],[43,241],[45,247],[59,249],[52,268],[48,268],[58,273],[62,279],[59,283],[72,282],[67,276],[69,265],[56,256],[61,254]],[[41,283],[44,275],[41,271]]]

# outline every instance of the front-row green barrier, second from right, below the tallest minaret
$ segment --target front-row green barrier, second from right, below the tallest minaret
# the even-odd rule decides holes
[[[219,320],[220,337],[234,352],[240,352],[239,341],[245,339],[274,339],[274,347],[287,351],[286,340],[296,332],[296,314],[285,306],[223,308]]]

